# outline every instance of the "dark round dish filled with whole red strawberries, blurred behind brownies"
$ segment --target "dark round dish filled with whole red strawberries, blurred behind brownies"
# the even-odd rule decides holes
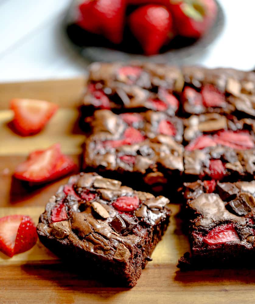
[[[91,61],[180,62],[199,56],[224,24],[215,0],[75,0],[68,40]]]

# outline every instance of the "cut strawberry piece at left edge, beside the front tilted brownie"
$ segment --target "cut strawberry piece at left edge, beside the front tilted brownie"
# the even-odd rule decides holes
[[[24,244],[20,244],[21,239]],[[4,254],[12,257],[29,250],[36,241],[36,228],[29,216],[11,215],[0,219],[0,250]]]

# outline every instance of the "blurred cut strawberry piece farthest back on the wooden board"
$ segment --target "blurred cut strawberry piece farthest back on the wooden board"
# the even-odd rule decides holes
[[[58,105],[44,100],[12,99],[10,108],[14,111],[13,125],[23,136],[38,133],[58,109]]]

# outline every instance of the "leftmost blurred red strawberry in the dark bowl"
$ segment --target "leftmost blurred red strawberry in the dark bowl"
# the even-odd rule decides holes
[[[125,0],[86,0],[79,5],[77,24],[118,44],[123,37],[125,10]]]

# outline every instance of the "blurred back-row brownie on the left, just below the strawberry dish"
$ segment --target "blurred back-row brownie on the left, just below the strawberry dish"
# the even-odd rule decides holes
[[[114,112],[163,111],[174,116],[179,109],[176,98],[183,88],[179,68],[160,64],[93,63],[83,98],[82,112],[95,109]]]

